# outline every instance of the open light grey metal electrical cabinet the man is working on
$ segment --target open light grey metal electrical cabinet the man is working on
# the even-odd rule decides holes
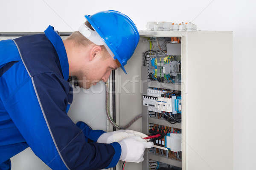
[[[168,48],[175,55],[180,55],[177,59],[180,62],[180,81],[170,82],[165,76],[163,79],[166,80],[161,82],[157,76],[154,77],[155,72],[152,80],[157,80],[151,81],[148,65],[154,61],[151,59],[146,62],[144,56],[145,51],[151,48],[149,40],[169,41],[171,37],[181,40],[180,45],[166,43],[167,56]],[[140,42],[125,65],[128,74],[116,70],[114,78],[112,77],[115,80],[115,99],[110,99],[112,111],[114,107],[116,122],[120,125],[125,125],[134,116],[142,113],[142,119],[134,122],[129,129],[146,134],[150,134],[153,125],[179,129],[182,136],[182,156],[178,160],[170,159],[162,153],[152,153],[149,149],[145,151],[142,164],[126,163],[125,169],[154,170],[156,162],[170,164],[182,170],[233,169],[232,39],[232,31],[140,31]],[[158,48],[156,44],[155,48]],[[148,65],[145,66],[145,63]],[[169,70],[170,63],[167,64],[162,69]],[[166,75],[165,70],[163,73]],[[180,96],[175,96],[177,105],[169,105],[176,107],[176,112],[172,113],[180,111],[181,122],[171,124],[166,119],[150,116],[156,110],[152,110],[152,103],[149,102],[151,107],[148,107],[145,105],[147,101],[143,100],[148,95],[149,88],[181,92]],[[158,112],[168,113],[174,108],[164,109],[167,110]]]

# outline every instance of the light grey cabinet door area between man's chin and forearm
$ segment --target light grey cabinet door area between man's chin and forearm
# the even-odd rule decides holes
[[[74,88],[73,103],[68,116],[73,122],[83,121],[93,129],[107,130],[105,85],[97,83],[90,89]]]

